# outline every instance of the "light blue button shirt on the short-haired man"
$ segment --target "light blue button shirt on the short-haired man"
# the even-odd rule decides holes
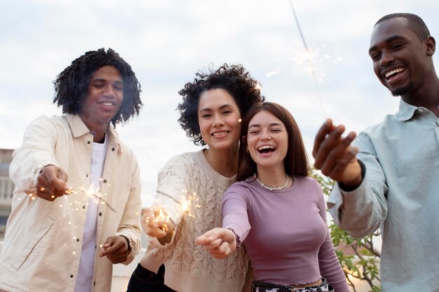
[[[401,99],[396,115],[353,144],[365,178],[351,192],[336,184],[330,214],[354,237],[381,228],[382,291],[439,291],[438,117]]]

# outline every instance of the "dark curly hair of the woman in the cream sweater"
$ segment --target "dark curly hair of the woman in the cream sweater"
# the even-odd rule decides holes
[[[203,71],[196,73],[194,82],[186,83],[178,92],[183,97],[183,101],[177,106],[177,110],[180,111],[178,122],[186,131],[186,136],[192,139],[195,145],[205,145],[198,125],[198,102],[201,93],[205,90],[215,88],[227,90],[234,98],[243,117],[253,104],[265,100],[257,84],[241,64],[223,64],[217,70],[209,69],[208,73]]]

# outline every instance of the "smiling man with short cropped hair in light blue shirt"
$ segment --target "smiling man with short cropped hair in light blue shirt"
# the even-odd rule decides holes
[[[379,81],[401,97],[398,113],[358,137],[354,132],[342,137],[344,126],[327,120],[313,148],[315,166],[337,181],[327,201],[337,225],[354,237],[381,228],[384,292],[439,291],[434,53],[435,40],[417,15],[395,13],[378,20],[369,54]]]

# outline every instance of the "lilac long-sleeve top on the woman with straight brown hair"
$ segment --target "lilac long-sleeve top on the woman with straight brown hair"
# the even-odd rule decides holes
[[[325,277],[335,291],[349,292],[314,179],[295,176],[290,188],[271,191],[254,177],[236,182],[224,194],[222,216],[245,243],[256,280],[291,285]]]

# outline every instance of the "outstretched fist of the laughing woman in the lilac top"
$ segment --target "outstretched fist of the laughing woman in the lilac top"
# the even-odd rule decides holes
[[[226,228],[213,228],[195,239],[214,258],[226,258],[236,249],[236,235]]]

